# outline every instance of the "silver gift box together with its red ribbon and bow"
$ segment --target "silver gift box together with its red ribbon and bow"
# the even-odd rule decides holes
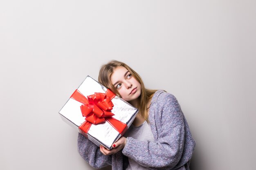
[[[130,127],[138,109],[87,76],[61,108],[61,118],[97,146],[112,148]]]

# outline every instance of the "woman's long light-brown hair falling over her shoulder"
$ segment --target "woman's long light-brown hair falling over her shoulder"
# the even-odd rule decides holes
[[[137,81],[141,84],[141,95],[138,98],[137,108],[139,109],[139,114],[141,115],[141,117],[148,122],[147,103],[150,101],[153,94],[157,90],[150,90],[150,89],[145,88],[141,77],[139,76],[138,73],[136,73],[136,71],[132,70],[132,68],[130,68],[127,64],[125,64],[123,62],[112,60],[112,61],[108,62],[107,64],[101,66],[101,69],[99,71],[99,77],[98,77],[99,83],[102,84],[103,86],[106,86],[107,88],[109,88],[117,96],[121,97],[121,95],[118,93],[117,89],[110,82],[110,76],[114,72],[114,69],[119,66],[123,66],[124,68],[126,68],[132,74],[132,76],[134,76],[135,79],[137,79]]]

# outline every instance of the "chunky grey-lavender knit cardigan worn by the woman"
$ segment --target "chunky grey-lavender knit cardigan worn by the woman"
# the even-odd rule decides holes
[[[93,168],[112,165],[112,170],[123,170],[125,155],[152,170],[184,169],[192,157],[195,141],[177,99],[170,93],[156,91],[150,101],[148,120],[154,142],[128,137],[123,150],[105,156],[98,146],[79,133],[81,157]]]

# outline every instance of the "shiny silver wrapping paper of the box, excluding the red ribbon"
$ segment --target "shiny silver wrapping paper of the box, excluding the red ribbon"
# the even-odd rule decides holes
[[[102,86],[90,76],[87,76],[77,89],[85,97],[93,95],[94,93],[105,93],[107,90],[105,86]],[[117,96],[115,96],[111,101],[114,104],[111,112],[115,114],[112,117],[125,123],[129,128],[138,113],[138,109]],[[81,105],[81,102],[70,98],[59,111],[63,121],[76,128],[78,132],[79,126],[85,121],[85,117],[83,117],[81,113]],[[111,149],[112,144],[121,137],[121,134],[107,121],[98,125],[92,124],[87,135],[88,139],[94,144],[97,146],[102,145],[107,149]]]

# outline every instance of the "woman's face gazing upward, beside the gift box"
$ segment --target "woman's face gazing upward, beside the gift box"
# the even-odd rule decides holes
[[[127,102],[137,101],[141,95],[141,84],[123,66],[114,69],[110,76],[111,83],[115,86],[122,99]]]

